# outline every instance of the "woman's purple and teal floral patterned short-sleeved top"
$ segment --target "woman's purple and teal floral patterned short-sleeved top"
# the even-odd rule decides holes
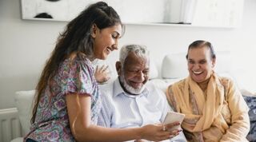
[[[37,116],[31,125],[30,138],[37,141],[75,141],[69,126],[65,96],[69,93],[90,94],[91,122],[98,123],[102,106],[94,69],[89,60],[66,59],[44,90]]]

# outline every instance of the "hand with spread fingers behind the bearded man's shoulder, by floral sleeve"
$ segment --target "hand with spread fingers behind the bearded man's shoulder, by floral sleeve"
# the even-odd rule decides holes
[[[101,67],[96,67],[94,77],[98,83],[104,83],[110,79],[110,72],[108,70],[108,65],[102,65]]]

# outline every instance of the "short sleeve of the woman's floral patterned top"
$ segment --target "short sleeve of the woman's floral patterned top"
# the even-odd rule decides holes
[[[62,93],[93,93],[94,71],[88,62],[64,61],[59,71]]]

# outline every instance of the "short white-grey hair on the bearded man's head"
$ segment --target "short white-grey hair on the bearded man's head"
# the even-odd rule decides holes
[[[146,48],[146,45],[123,45],[120,49],[119,61],[122,67],[126,61],[126,57],[130,52],[135,53],[138,57],[143,57],[146,60],[150,58],[150,51]]]

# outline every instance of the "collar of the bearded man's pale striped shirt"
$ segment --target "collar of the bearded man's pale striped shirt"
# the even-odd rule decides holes
[[[120,84],[119,79],[117,78],[114,81],[114,91],[113,91],[113,96],[114,97],[118,97],[119,95],[125,95],[126,97],[141,97],[141,96],[145,96],[147,97],[149,95],[149,89],[147,89],[147,87],[142,91],[141,94],[139,95],[130,95],[130,93],[126,93],[123,89],[122,86]]]

